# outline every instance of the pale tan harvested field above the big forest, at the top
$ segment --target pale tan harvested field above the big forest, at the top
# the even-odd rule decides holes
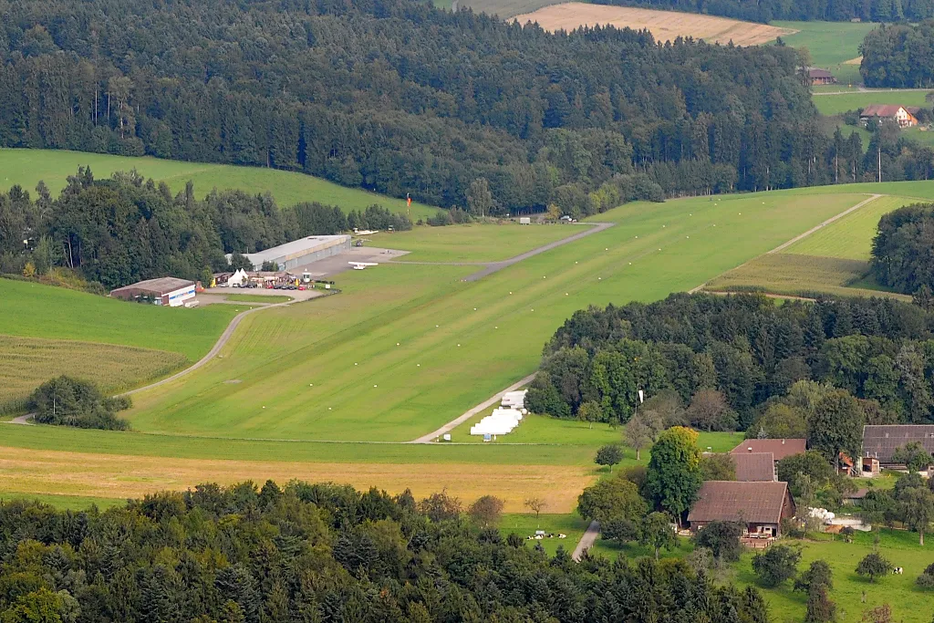
[[[650,8],[608,7],[569,2],[562,5],[540,8],[533,13],[517,15],[519,23],[537,22],[547,31],[572,31],[580,26],[613,25],[617,28],[629,26],[634,30],[647,28],[658,41],[678,36],[692,36],[708,43],[729,43],[738,46],[755,46],[774,41],[778,36],[792,35],[797,31],[777,28],[768,24],[730,20],[709,15],[656,11]]]

